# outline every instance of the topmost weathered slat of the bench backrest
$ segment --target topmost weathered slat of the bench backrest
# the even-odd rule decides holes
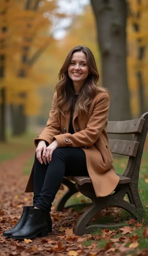
[[[112,134],[135,134],[141,133],[145,119],[134,119],[128,121],[109,121],[107,133]]]

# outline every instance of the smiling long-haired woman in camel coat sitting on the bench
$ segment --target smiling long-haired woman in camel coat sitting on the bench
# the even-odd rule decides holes
[[[3,235],[48,235],[49,212],[64,176],[90,176],[97,197],[116,188],[119,177],[106,133],[110,94],[96,85],[98,79],[90,49],[73,48],[60,70],[47,126],[34,139],[36,155],[25,188],[34,193],[33,206],[25,206],[18,224]]]

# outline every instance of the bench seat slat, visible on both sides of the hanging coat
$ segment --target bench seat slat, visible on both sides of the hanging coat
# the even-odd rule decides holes
[[[128,177],[122,176],[120,174],[117,174],[117,175],[120,177],[120,181],[118,184],[126,184],[131,181],[131,179]],[[91,178],[89,176],[69,176],[64,178],[66,178],[67,180],[72,180],[79,185],[83,185],[85,183],[92,183]]]

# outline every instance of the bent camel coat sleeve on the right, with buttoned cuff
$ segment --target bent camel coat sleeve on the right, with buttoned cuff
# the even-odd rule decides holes
[[[85,130],[77,133],[54,135],[52,141],[57,140],[58,147],[82,147],[93,145],[100,136],[108,117],[110,96],[102,93],[96,101],[92,115]]]

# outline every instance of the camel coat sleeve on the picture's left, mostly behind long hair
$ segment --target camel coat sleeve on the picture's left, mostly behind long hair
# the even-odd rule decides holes
[[[34,144],[37,147],[39,140],[45,140],[49,145],[51,144],[52,137],[54,135],[59,135],[61,133],[61,127],[58,122],[57,115],[55,115],[55,100],[56,93],[53,96],[52,110],[49,113],[49,119],[47,121],[47,126],[42,131],[40,135],[34,138]]]

